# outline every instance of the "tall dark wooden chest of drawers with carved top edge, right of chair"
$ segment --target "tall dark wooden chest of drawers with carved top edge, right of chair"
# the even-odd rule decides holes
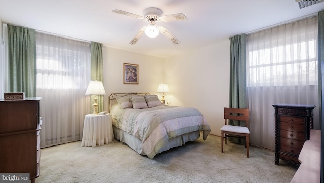
[[[299,166],[299,153],[310,129],[313,129],[315,105],[274,104],[275,109],[275,164],[279,159],[292,166]]]

